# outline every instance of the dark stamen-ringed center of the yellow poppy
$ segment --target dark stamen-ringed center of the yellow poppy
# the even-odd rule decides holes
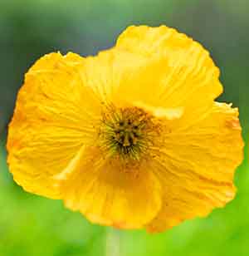
[[[102,146],[111,155],[138,160],[153,144],[153,117],[138,107],[112,107],[102,121]]]

